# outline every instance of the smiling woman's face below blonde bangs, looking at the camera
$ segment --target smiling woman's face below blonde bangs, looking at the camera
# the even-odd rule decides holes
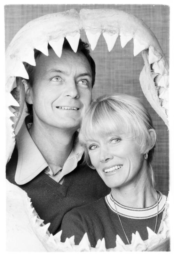
[[[91,163],[110,188],[137,183],[145,164],[140,147],[133,137],[111,133],[87,141]]]

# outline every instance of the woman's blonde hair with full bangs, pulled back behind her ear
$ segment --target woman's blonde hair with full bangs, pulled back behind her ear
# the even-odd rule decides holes
[[[148,153],[149,174],[155,186],[149,129],[154,129],[148,110],[140,100],[126,94],[103,95],[93,101],[87,110],[79,132],[79,141],[85,149],[85,161],[94,168],[89,158],[86,142],[96,135],[104,136],[112,132],[126,133],[135,138],[142,154]]]

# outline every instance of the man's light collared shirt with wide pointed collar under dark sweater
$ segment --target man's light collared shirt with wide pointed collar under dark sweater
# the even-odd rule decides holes
[[[25,121],[16,136],[16,143],[18,149],[18,161],[15,182],[18,185],[23,185],[31,181],[43,170],[55,181],[62,184],[63,177],[77,167],[77,163],[83,154],[82,147],[79,144],[74,145],[70,155],[63,165],[63,168],[58,167],[57,173],[53,173],[38,147],[32,140]]]

